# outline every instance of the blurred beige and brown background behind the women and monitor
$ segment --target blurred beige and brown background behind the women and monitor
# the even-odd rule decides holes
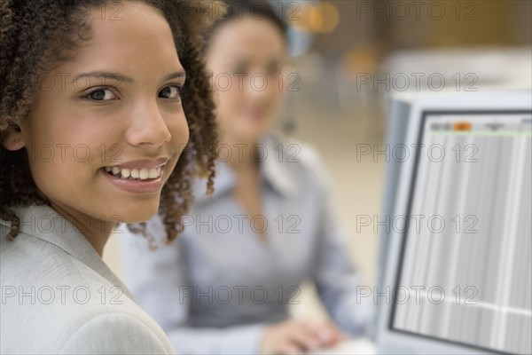
[[[291,67],[277,130],[317,147],[332,175],[354,263],[375,285],[387,106],[397,92],[532,86],[532,1],[279,1],[291,29]],[[377,233],[376,233],[377,232]],[[120,274],[115,241],[106,261]],[[307,285],[295,315],[324,312]]]

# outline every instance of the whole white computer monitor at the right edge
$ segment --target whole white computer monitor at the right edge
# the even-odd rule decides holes
[[[532,92],[419,94],[390,121],[378,352],[531,353]]]

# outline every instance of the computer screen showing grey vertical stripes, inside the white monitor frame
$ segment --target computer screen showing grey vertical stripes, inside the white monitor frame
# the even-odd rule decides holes
[[[391,330],[532,352],[531,144],[529,111],[423,114]]]

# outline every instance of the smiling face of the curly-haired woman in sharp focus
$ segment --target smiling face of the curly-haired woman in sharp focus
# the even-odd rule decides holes
[[[90,40],[46,75],[21,124],[35,184],[76,219],[153,217],[189,138],[168,22],[147,4],[121,4],[121,20],[92,9]]]

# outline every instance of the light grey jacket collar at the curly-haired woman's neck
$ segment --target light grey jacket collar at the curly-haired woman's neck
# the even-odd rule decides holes
[[[12,207],[11,209],[20,218],[21,233],[34,236],[63,249],[66,254],[98,272],[113,286],[121,287],[126,296],[135,299],[83,234],[55,209],[47,205]]]

